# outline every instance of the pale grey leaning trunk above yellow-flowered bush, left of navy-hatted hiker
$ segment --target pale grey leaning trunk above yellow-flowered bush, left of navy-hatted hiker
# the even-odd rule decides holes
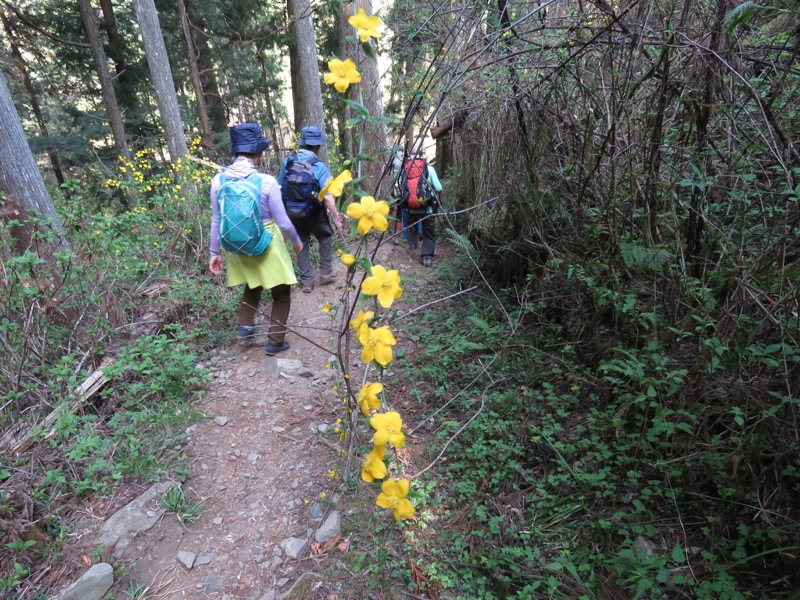
[[[189,153],[186,146],[186,135],[183,132],[183,121],[175,94],[175,83],[169,66],[167,47],[161,34],[158,13],[153,0],[133,0],[136,20],[142,33],[142,43],[150,67],[150,78],[156,92],[156,102],[167,137],[170,160],[183,158]]]

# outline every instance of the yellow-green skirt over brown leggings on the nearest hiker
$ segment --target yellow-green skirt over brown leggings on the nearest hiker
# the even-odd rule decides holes
[[[294,265],[281,230],[274,221],[266,221],[264,227],[272,234],[272,241],[258,256],[242,256],[228,253],[227,285],[247,284],[250,289],[270,289],[276,285],[294,285],[297,277]]]

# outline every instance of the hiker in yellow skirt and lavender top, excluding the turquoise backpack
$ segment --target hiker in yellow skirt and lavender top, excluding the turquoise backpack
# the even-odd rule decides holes
[[[217,194],[223,182],[246,179],[257,173],[261,156],[269,147],[269,141],[264,138],[257,123],[235,125],[230,128],[230,135],[233,163],[223,172],[217,173],[211,181],[211,260],[208,268],[214,275],[222,273],[225,266],[225,261],[220,255],[220,210]],[[258,256],[227,253],[226,283],[229,287],[245,284],[242,301],[239,304],[240,339],[255,335],[255,316],[261,294],[265,288],[272,292],[272,311],[265,347],[266,353],[271,356],[289,349],[289,342],[285,339],[286,322],[291,308],[291,286],[297,283],[292,258],[286,249],[284,238],[289,240],[296,254],[303,249],[303,243],[286,215],[278,182],[272,175],[264,173],[259,173],[259,178],[261,219],[267,231],[272,234],[272,241]]]

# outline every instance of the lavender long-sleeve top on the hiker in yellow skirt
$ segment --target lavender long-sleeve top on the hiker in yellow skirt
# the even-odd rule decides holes
[[[233,164],[225,168],[224,174],[230,179],[244,179],[251,173],[257,171],[253,163],[247,158],[240,156],[233,161]],[[222,173],[214,175],[211,180],[211,256],[219,256],[219,205],[217,204],[217,194],[219,193],[220,177]],[[272,175],[263,175],[261,184],[261,218],[264,221],[273,220],[278,229],[283,233],[283,237],[289,240],[292,245],[300,244],[300,236],[292,225],[292,221],[286,215],[286,209],[281,200],[281,188]]]

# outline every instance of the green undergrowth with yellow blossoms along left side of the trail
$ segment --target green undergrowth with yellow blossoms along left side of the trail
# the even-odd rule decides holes
[[[0,230],[3,597],[46,597],[25,590],[56,571],[84,503],[185,476],[202,361],[234,319],[201,271],[208,173],[147,151],[120,167],[116,195],[88,197],[77,179],[52,192],[60,235],[24,215]]]

